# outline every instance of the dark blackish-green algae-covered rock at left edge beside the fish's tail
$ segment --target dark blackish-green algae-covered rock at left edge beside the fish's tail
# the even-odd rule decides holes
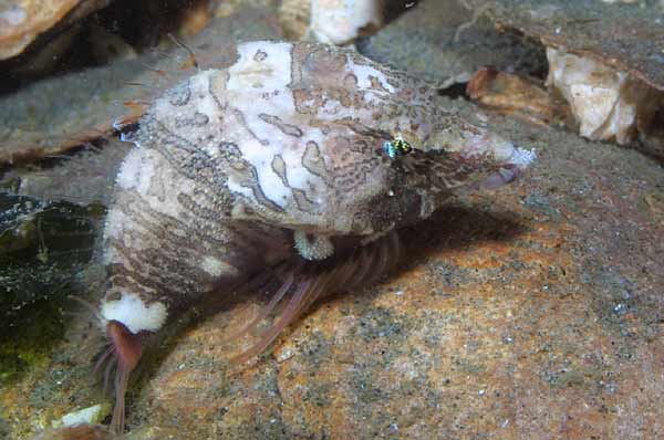
[[[101,206],[0,193],[0,328],[32,321],[25,307],[61,302],[91,260]]]

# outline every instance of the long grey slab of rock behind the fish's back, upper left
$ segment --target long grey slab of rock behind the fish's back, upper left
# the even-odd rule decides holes
[[[235,41],[280,35],[273,11],[245,8],[216,19],[185,40],[201,69],[230,65]],[[0,96],[0,164],[34,160],[108,136],[136,121],[145,104],[194,70],[189,53],[173,48],[110,66],[72,72]]]

